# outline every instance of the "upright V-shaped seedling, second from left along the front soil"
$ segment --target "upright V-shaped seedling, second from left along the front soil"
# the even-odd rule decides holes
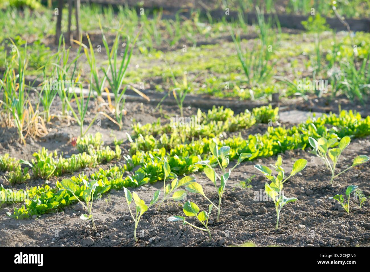
[[[158,201],[159,195],[161,194],[161,190],[155,191],[153,199],[150,202],[149,206],[145,205],[144,200],[140,199],[139,196],[137,195],[137,193],[132,192],[132,194],[131,194],[131,192],[125,187],[123,187],[123,190],[125,192],[125,198],[126,198],[126,201],[127,201],[127,205],[128,205],[128,209],[130,211],[131,217],[135,221],[134,238],[135,238],[135,242],[137,242],[138,240],[136,238],[136,229],[138,227],[140,218],[144,214],[144,212],[148,211],[150,206],[152,206],[153,204],[155,204]],[[131,211],[131,208],[130,208],[130,204],[132,202],[132,199],[134,199],[134,202],[135,202],[135,205],[136,205],[135,216],[132,214],[132,211]]]

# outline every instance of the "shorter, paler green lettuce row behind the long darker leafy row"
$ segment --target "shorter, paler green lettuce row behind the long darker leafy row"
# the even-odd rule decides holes
[[[153,150],[155,138],[153,135],[162,134],[160,139],[161,147],[169,150],[177,144],[188,142],[189,139],[201,138],[204,136],[218,137],[223,131],[234,132],[251,127],[258,122],[275,121],[278,119],[279,108],[272,109],[271,105],[253,109],[253,113],[245,110],[243,113],[234,115],[229,108],[213,107],[208,113],[198,113],[188,120],[182,122],[168,122],[161,125],[158,122],[141,126],[133,125],[135,142],[131,143],[130,155],[138,150]],[[198,121],[199,120],[199,121]],[[195,121],[195,123],[194,123]],[[148,135],[151,133],[153,135]],[[167,135],[168,133],[168,135]],[[145,138],[143,137],[145,135]],[[79,154],[73,154],[69,158],[64,158],[63,154],[58,155],[56,151],[48,152],[42,148],[33,154],[31,162],[19,161],[11,158],[9,154],[0,155],[0,171],[7,172],[5,178],[11,185],[24,183],[31,178],[28,170],[31,169],[33,178],[49,179],[50,177],[60,177],[63,174],[73,173],[85,167],[94,167],[97,164],[107,163],[112,159],[120,159],[122,150],[115,144],[114,150],[109,146],[104,147],[102,135],[88,135],[78,138],[76,147]],[[26,168],[21,168],[21,164],[26,164]]]

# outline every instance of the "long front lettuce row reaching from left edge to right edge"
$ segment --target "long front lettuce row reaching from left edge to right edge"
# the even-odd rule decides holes
[[[203,159],[209,159],[211,163],[216,163],[216,158],[209,153],[209,144],[213,142],[213,139],[216,139],[218,146],[226,145],[231,148],[229,159],[232,161],[237,159],[241,153],[252,154],[248,160],[253,160],[260,157],[270,157],[287,150],[306,149],[309,147],[309,137],[340,139],[344,136],[356,138],[369,134],[370,116],[363,119],[358,113],[342,111],[339,115],[324,114],[318,118],[309,118],[306,122],[291,128],[269,126],[264,134],[249,135],[246,139],[240,136],[201,138],[175,145],[173,148],[164,147],[160,140],[155,140],[154,144],[150,146],[151,150],[137,149],[135,154],[124,156],[126,164],[123,166],[114,166],[107,170],[99,169],[90,177],[79,175],[72,177],[72,180],[80,187],[78,189],[80,194],[85,189],[86,182],[84,181],[97,180],[98,186],[94,196],[100,197],[111,189],[138,187],[148,182],[163,180],[165,160],[171,167],[171,172],[178,176],[191,174],[203,168],[202,165],[197,164]],[[137,141],[132,141],[131,146],[137,147]],[[127,171],[132,171],[134,168],[136,169],[134,174],[127,175]],[[80,196],[78,192],[77,197]],[[17,192],[1,188],[0,193],[3,195],[3,200],[4,196],[7,197],[5,200],[8,202],[17,202],[16,197],[23,195],[23,199],[19,199],[19,201],[24,201],[25,205],[15,208],[12,214],[9,213],[10,216],[17,219],[56,211],[76,201],[75,197],[58,182],[54,188],[46,185]]]

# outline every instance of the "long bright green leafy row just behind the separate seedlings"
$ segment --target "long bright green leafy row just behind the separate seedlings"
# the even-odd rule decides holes
[[[332,127],[327,128],[324,125],[326,123]],[[258,157],[270,157],[286,150],[306,148],[309,143],[309,137],[315,139],[320,137],[326,137],[328,139],[338,138],[342,136],[344,132],[354,137],[364,136],[370,134],[369,128],[370,117],[361,119],[359,114],[342,111],[339,116],[334,114],[323,115],[317,119],[309,119],[305,123],[299,124],[288,130],[281,127],[269,127],[265,134],[249,135],[247,140],[243,140],[241,137],[233,137],[225,140],[215,139],[215,141],[219,145],[230,147],[228,153],[230,161],[236,159],[238,154],[241,153],[252,154],[252,156],[249,157],[250,160]],[[166,154],[164,148],[147,152],[137,151],[132,157],[125,157],[127,164],[123,167],[112,167],[109,170],[100,169],[97,173],[92,174],[90,179],[98,180],[101,188],[113,186],[112,188],[115,189],[120,189],[122,187],[137,187],[147,182],[156,182],[164,178],[164,159],[168,161],[171,171],[176,175],[189,174],[201,168],[200,165],[196,165],[196,163],[199,162],[199,157],[209,158],[211,164],[216,162],[216,158],[214,156],[209,156],[208,152],[209,144],[212,142],[213,139],[202,139],[196,143],[184,145],[182,148],[172,149],[170,151],[170,156]],[[182,153],[183,156],[176,153]],[[132,177],[127,176],[124,178],[125,171],[130,171],[137,165],[141,165],[141,167],[135,171],[135,174]],[[74,177],[73,181],[77,184],[81,184],[83,179],[87,179],[87,177]],[[111,189],[111,187],[109,189]],[[100,189],[97,189],[97,191],[99,190]],[[105,189],[101,190],[104,191]],[[62,194],[62,192],[56,192],[55,197],[57,200],[53,200],[55,197],[50,194],[51,193],[49,193],[49,197],[47,198],[45,198],[45,194],[35,195],[31,201],[26,202],[26,207],[16,209],[12,216],[15,218],[22,218],[26,216],[25,214],[43,214],[59,208],[59,205],[65,205],[64,202],[58,201],[58,199],[61,200],[60,194]],[[42,210],[37,210],[37,205],[40,205],[42,202],[40,199],[42,201],[46,201],[47,199],[48,202],[52,202],[55,205],[49,205],[50,208],[47,209],[43,208]],[[59,204],[56,205],[57,203],[54,201]]]

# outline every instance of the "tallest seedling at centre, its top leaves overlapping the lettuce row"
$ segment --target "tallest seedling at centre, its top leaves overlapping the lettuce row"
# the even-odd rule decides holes
[[[216,158],[217,163],[219,167],[221,168],[222,174],[218,175],[216,171],[212,168],[210,161],[200,161],[198,164],[206,165],[207,167],[203,169],[204,173],[206,176],[213,182],[213,184],[216,187],[217,194],[218,194],[218,209],[217,212],[217,222],[220,217],[220,211],[221,211],[221,199],[223,192],[225,192],[225,187],[226,187],[226,182],[228,181],[231,172],[237,167],[240,162],[242,162],[246,158],[252,157],[252,154],[250,153],[240,153],[238,162],[234,165],[233,168],[230,168],[229,171],[226,171],[226,168],[229,165],[229,152],[230,152],[230,147],[223,146],[220,149],[218,149],[218,145],[215,142],[211,142],[209,144],[209,150],[211,151],[212,155]],[[220,186],[217,185],[217,178],[220,180]],[[203,191],[203,190],[202,190]],[[204,193],[202,194],[204,197]],[[211,202],[208,199],[209,202]],[[212,202],[211,202],[212,203]],[[214,205],[214,204],[213,204]]]

